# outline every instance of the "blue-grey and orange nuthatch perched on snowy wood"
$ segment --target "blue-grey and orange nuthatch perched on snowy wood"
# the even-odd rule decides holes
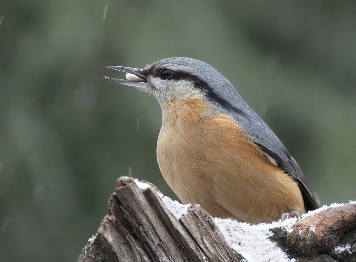
[[[250,224],[300,217],[319,196],[286,147],[216,69],[167,58],[143,69],[106,66],[152,94],[162,109],[157,162],[183,204]]]

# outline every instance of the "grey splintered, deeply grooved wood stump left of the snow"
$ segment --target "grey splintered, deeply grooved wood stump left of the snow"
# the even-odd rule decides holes
[[[121,177],[108,214],[79,261],[242,261],[198,205],[176,219],[152,187]]]

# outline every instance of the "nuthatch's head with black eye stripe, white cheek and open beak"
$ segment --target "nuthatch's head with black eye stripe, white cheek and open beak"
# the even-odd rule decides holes
[[[188,98],[202,94],[206,100],[221,104],[236,99],[236,90],[227,79],[210,65],[192,58],[167,58],[143,69],[107,66],[126,72],[126,80],[104,77],[110,81],[134,86],[151,93],[158,102]]]

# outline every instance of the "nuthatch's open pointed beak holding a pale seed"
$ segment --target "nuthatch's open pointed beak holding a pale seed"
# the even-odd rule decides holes
[[[125,72],[127,80],[104,76],[105,79],[108,79],[115,83],[125,84],[126,86],[146,88],[147,78],[146,76],[142,75],[141,69],[126,67],[126,66],[106,66],[106,67],[121,72]]]

